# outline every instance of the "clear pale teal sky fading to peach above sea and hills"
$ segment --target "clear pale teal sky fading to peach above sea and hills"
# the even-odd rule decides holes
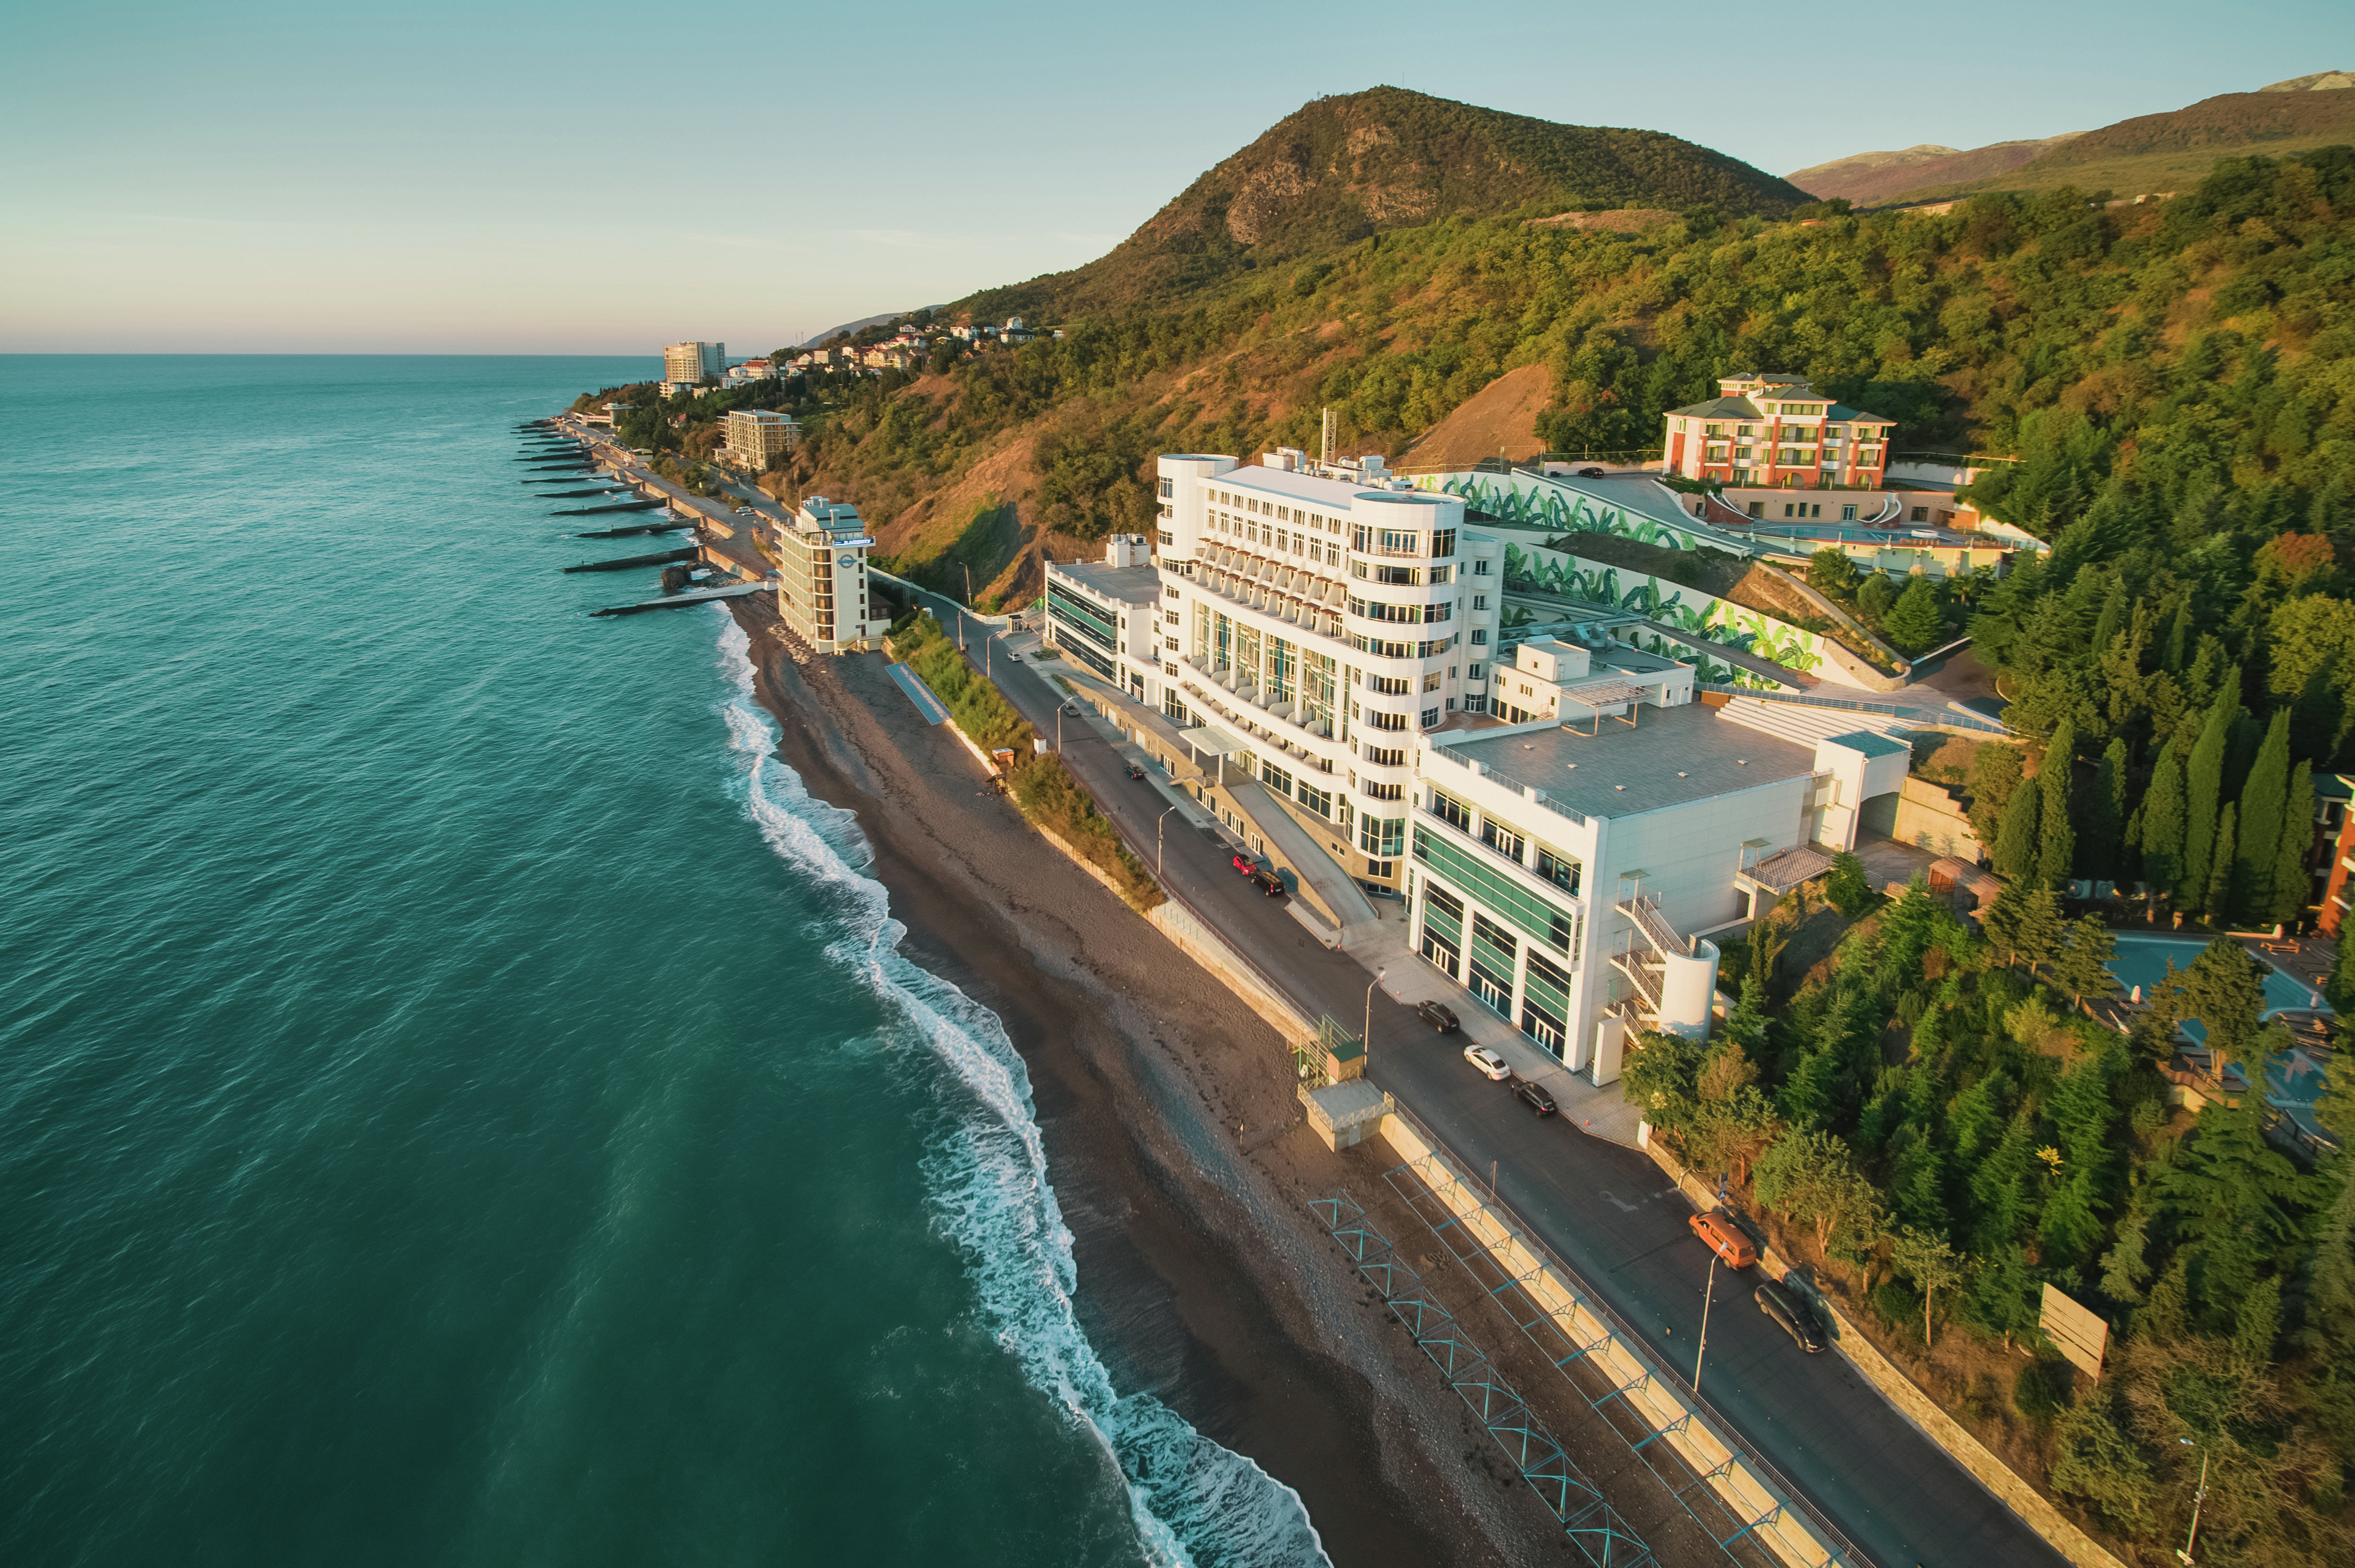
[[[1079,266],[1385,82],[1787,174],[2355,68],[2346,0],[19,5],[14,353],[744,358]]]

